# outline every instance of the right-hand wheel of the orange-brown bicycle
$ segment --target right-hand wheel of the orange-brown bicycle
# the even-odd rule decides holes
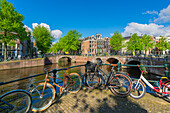
[[[70,73],[68,77],[69,78],[67,79],[67,86],[68,86],[67,90],[70,93],[77,93],[80,90],[82,84],[80,75],[77,73]],[[73,83],[73,81],[75,83]]]

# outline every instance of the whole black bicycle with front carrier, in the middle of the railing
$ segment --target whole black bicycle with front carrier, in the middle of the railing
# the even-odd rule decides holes
[[[101,85],[109,88],[110,91],[120,97],[128,96],[132,89],[132,81],[130,77],[124,73],[115,73],[114,67],[117,64],[110,64],[112,66],[109,75],[104,73],[99,68],[99,64],[88,61],[86,63],[87,72],[83,76],[84,84],[87,88],[95,89]]]

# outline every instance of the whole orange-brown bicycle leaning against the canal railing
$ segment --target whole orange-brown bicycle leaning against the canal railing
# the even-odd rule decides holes
[[[81,88],[82,81],[78,73],[70,73],[69,75],[67,75],[64,72],[64,76],[62,79],[50,76],[47,69],[45,68],[44,70],[46,72],[45,82],[39,83],[38,86],[34,87],[30,91],[31,96],[33,98],[32,111],[35,112],[44,111],[52,104],[56,94],[56,89],[54,88],[54,86],[57,86],[60,89],[59,90],[60,93],[63,92],[77,93]],[[68,70],[68,68],[60,70]],[[53,71],[53,75],[56,72],[57,72],[56,70]],[[52,81],[52,83],[48,83],[50,82],[50,78],[60,80],[61,82],[55,83],[54,81]],[[59,84],[62,84],[62,86],[60,86]]]

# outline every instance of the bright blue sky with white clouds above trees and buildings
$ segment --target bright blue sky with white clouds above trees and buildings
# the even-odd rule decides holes
[[[82,38],[101,33],[111,37],[170,36],[170,0],[8,0],[24,16],[31,31],[45,26],[57,39],[76,29]]]

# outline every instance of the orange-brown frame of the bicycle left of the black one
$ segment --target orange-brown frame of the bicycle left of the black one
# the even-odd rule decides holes
[[[46,71],[46,70],[45,70],[45,71]],[[48,71],[46,71],[45,83],[44,83],[44,87],[43,87],[43,91],[42,91],[41,97],[43,97],[43,93],[44,93],[44,90],[45,90],[45,86],[46,86],[46,84],[47,84],[47,81],[48,81],[48,82],[50,81],[48,78],[53,78],[53,79],[61,80],[62,83],[63,83],[63,86],[60,86],[60,85],[58,85],[57,83],[53,82],[53,85],[55,85],[55,86],[57,86],[57,87],[59,87],[59,88],[61,88],[61,89],[66,89],[67,87],[75,84],[75,81],[72,80],[72,79],[71,79],[68,75],[66,75],[65,73],[64,73],[64,78],[61,79],[61,78],[58,78],[58,77],[49,76]],[[72,80],[73,84],[67,85],[68,79]]]

